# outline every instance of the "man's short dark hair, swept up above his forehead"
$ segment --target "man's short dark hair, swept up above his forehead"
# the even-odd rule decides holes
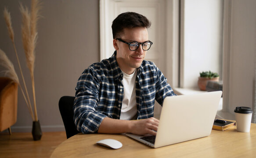
[[[124,28],[144,27],[149,28],[151,22],[145,16],[135,12],[119,14],[112,22],[113,39],[118,38]]]

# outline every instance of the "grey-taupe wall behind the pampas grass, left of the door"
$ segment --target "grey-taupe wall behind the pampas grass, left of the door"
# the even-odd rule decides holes
[[[22,0],[30,6],[30,0]],[[15,44],[25,75],[30,98],[32,90],[29,71],[21,40],[21,14],[16,0],[0,1],[0,49],[11,59],[18,71],[14,49],[8,36],[4,7],[11,12]],[[43,0],[38,22],[36,46],[35,89],[38,117],[43,132],[64,131],[58,109],[61,96],[75,95],[76,81],[83,70],[99,61],[99,1],[98,0]],[[21,91],[18,92],[18,118],[13,132],[31,132],[32,118]]]

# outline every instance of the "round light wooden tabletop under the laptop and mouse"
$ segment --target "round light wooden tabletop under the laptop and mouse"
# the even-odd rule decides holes
[[[97,145],[102,139],[119,140],[123,147],[110,149]],[[212,130],[210,136],[166,147],[151,148],[123,134],[82,134],[60,144],[51,158],[255,158],[256,124],[250,133]]]

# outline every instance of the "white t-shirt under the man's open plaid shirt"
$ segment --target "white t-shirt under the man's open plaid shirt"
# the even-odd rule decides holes
[[[123,72],[123,71],[122,71]],[[131,75],[123,72],[123,103],[120,119],[137,119],[136,86],[137,69]]]

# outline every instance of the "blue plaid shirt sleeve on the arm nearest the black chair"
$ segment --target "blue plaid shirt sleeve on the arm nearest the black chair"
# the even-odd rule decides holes
[[[92,69],[86,69],[78,79],[73,107],[76,128],[82,133],[97,133],[102,120],[107,117],[96,111],[99,89],[97,75]]]

